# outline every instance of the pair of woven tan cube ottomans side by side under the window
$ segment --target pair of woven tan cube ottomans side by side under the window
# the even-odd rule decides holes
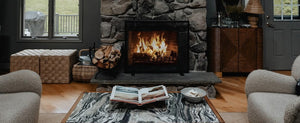
[[[42,83],[69,83],[75,55],[74,49],[26,49],[11,55],[10,71],[29,69]]]

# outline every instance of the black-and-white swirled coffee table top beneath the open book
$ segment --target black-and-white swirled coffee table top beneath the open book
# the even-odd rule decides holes
[[[189,103],[179,93],[143,106],[109,101],[109,93],[84,93],[67,122],[210,122],[218,119],[209,105]]]

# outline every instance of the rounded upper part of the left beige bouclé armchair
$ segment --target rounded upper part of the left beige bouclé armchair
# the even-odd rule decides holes
[[[35,92],[41,95],[40,76],[30,70],[20,70],[0,76],[0,93]]]

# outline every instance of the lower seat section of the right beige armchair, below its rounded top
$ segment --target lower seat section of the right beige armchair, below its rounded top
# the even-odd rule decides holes
[[[292,94],[255,92],[248,95],[250,123],[284,123],[285,108],[297,98]]]

